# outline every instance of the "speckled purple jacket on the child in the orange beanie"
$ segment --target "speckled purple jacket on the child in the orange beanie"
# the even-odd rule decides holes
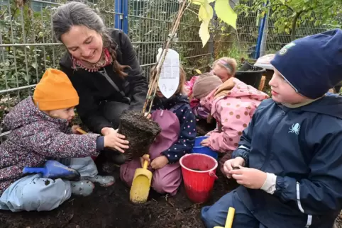
[[[0,145],[0,195],[23,176],[25,166],[42,166],[49,158],[96,156],[97,134],[69,135],[67,120],[50,118],[31,97],[4,118],[12,132]]]

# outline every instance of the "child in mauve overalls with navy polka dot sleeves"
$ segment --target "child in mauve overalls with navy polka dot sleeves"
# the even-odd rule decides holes
[[[180,69],[180,84],[175,95],[165,98],[158,89],[153,101],[151,119],[162,129],[150,147],[150,159],[133,159],[120,167],[121,180],[132,185],[136,169],[144,160],[153,171],[152,188],[158,193],[175,195],[182,182],[180,158],[191,151],[196,138],[196,118],[184,95],[186,74]]]

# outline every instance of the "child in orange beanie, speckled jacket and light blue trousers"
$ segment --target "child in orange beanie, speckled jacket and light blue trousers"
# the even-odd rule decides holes
[[[123,135],[76,135],[68,127],[79,103],[77,92],[67,75],[48,69],[30,96],[18,103],[4,118],[12,130],[0,145],[0,210],[18,212],[53,210],[71,194],[90,195],[94,184],[111,186],[113,176],[97,175],[90,156],[104,147],[128,148]],[[72,134],[73,133],[73,134]],[[71,134],[71,135],[69,135]],[[42,174],[23,175],[23,168],[43,166],[51,157],[68,160],[66,166],[79,171],[82,181],[42,178]]]

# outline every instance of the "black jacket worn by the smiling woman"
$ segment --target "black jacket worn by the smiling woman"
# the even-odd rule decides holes
[[[72,69],[72,60],[68,53],[60,60],[60,67],[69,77],[79,95],[77,113],[87,127],[100,133],[103,127],[112,127],[111,122],[104,118],[99,106],[101,101],[119,101],[130,104],[130,109],[141,110],[148,91],[148,83],[140,68],[136,51],[131,40],[121,30],[111,29],[111,38],[116,42],[116,59],[121,65],[128,65],[128,76],[121,79],[113,70],[113,65],[104,67],[106,74],[118,87],[109,82],[99,72],[87,72],[84,69]]]

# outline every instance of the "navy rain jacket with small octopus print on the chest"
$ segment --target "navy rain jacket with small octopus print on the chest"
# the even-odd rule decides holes
[[[342,97],[307,106],[263,101],[233,158],[277,176],[272,195],[240,186],[238,195],[266,227],[331,228],[342,203]]]

